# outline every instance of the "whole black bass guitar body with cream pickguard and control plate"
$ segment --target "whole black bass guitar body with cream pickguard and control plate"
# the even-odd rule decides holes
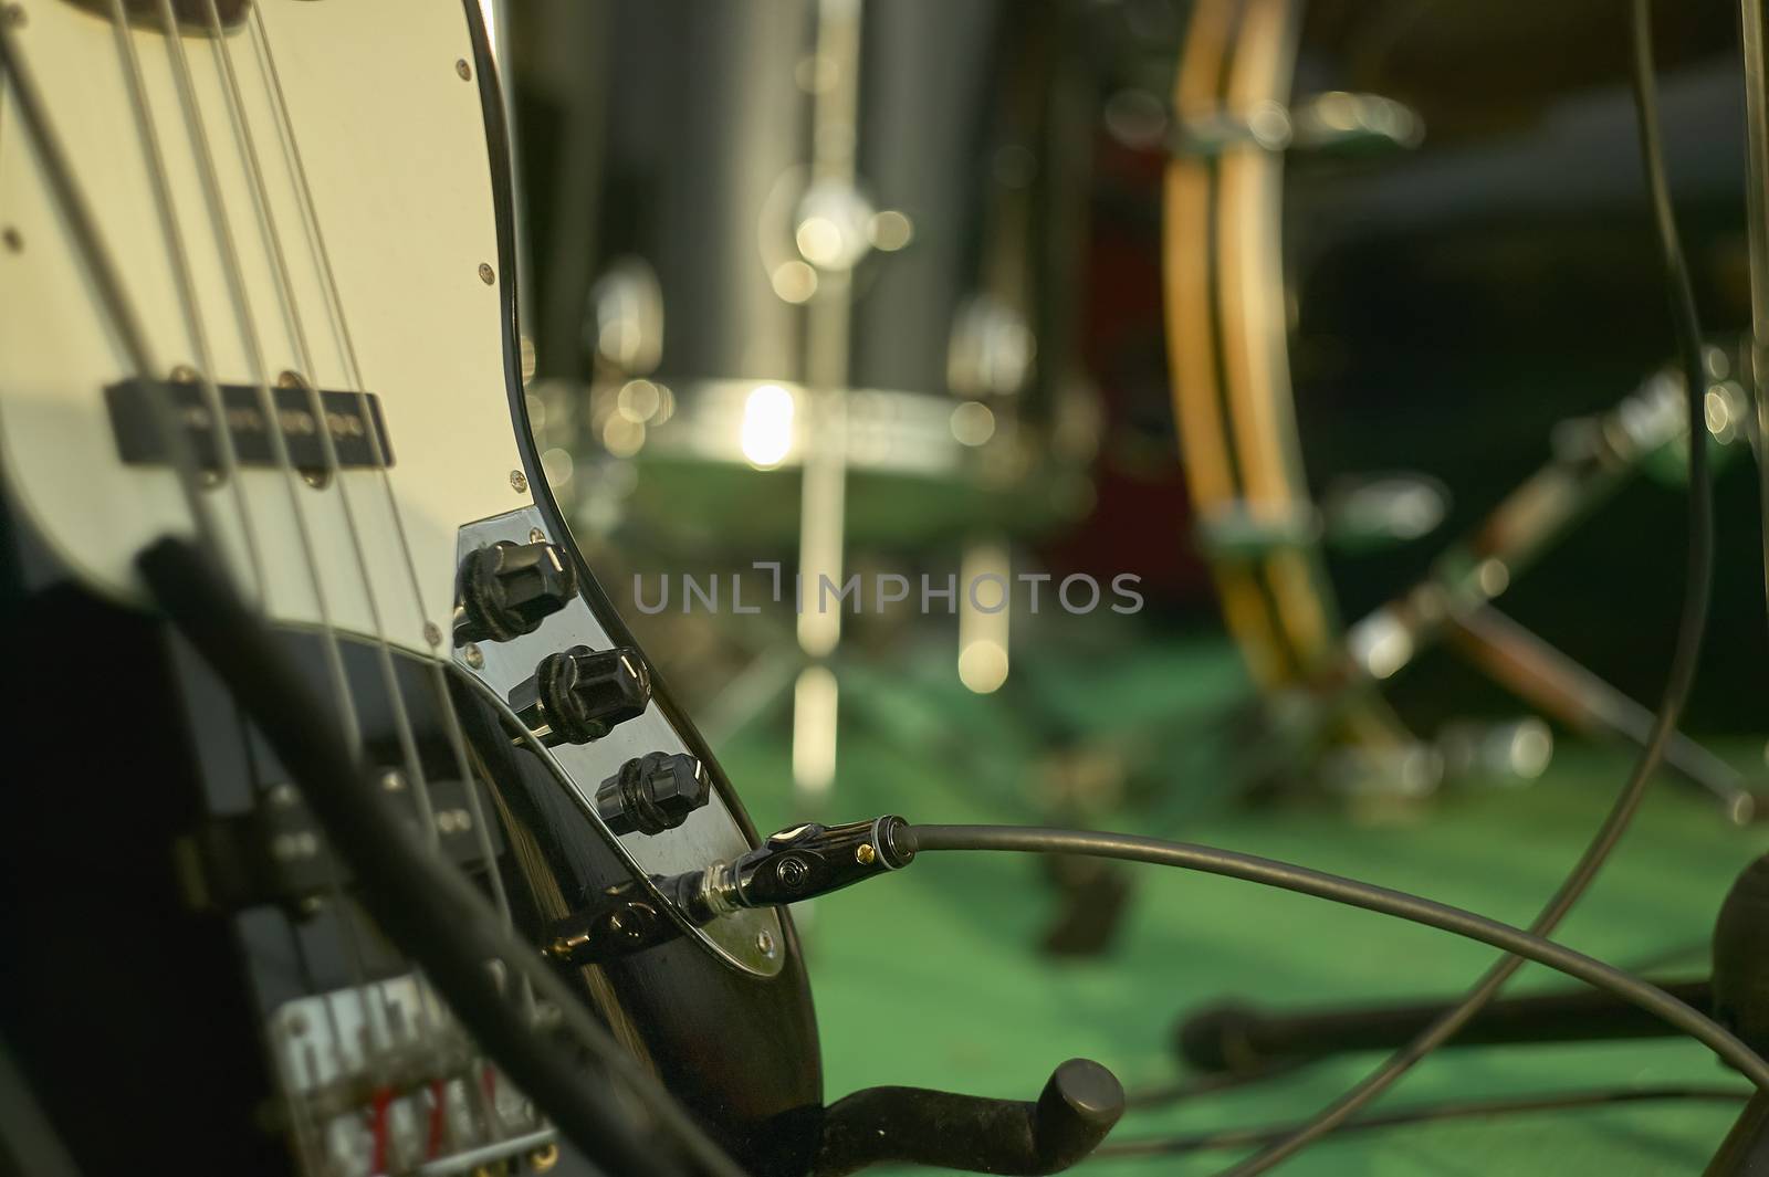
[[[276,756],[133,571],[159,535],[207,534],[387,788],[536,947],[587,896],[754,845],[656,668],[642,714],[601,739],[511,735],[540,659],[633,640],[527,431],[478,5],[255,0],[212,25],[179,0],[172,32],[157,4],[120,9],[28,0],[9,27],[94,232],[0,87],[4,634],[28,687],[7,726],[42,753],[0,786],[0,1041],[85,1173],[582,1172],[361,915]],[[168,399],[207,532],[152,433],[154,382],[186,396]],[[462,640],[463,557],[506,541],[555,544],[575,588],[532,633]],[[596,790],[655,751],[697,758],[711,801],[616,836]],[[784,915],[681,923],[561,968],[741,1163],[805,1168],[821,1071]]]

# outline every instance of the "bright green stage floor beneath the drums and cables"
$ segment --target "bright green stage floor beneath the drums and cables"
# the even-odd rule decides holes
[[[1100,730],[1155,718],[1173,700],[1196,702],[1199,691],[1231,687],[1237,679],[1215,647],[1095,673],[1091,686],[1079,684],[1056,705],[1084,712],[1083,723],[1091,716]],[[1024,728],[999,714],[1005,702],[966,696],[955,682],[941,686],[946,679],[946,672],[927,672],[906,682],[879,670],[844,677],[849,721],[830,820],[881,811],[913,822],[1035,820],[1031,802],[996,779],[1033,763]],[[996,771],[955,758],[955,737],[999,740]],[[757,824],[787,824],[784,730],[762,723],[720,751]],[[1762,763],[1760,744],[1735,751],[1741,763]],[[1415,889],[1525,924],[1601,818],[1626,767],[1626,756],[1562,746],[1530,788],[1463,794],[1406,820],[1359,822],[1329,806],[1203,804],[1201,815],[1173,832]],[[1176,779],[1173,788],[1182,799],[1212,792],[1198,779]],[[1120,829],[1136,822],[1129,813],[1100,818]],[[1695,949],[1734,875],[1765,848],[1762,827],[1730,829],[1711,804],[1659,781],[1562,938],[1619,963]],[[1056,910],[1037,866],[1017,855],[929,855],[895,880],[823,900],[801,921],[831,1099],[876,1083],[1028,1099],[1054,1064],[1074,1055],[1107,1064],[1129,1089],[1171,1083],[1183,1076],[1168,1048],[1180,1011],[1231,995],[1274,1004],[1452,995],[1493,958],[1482,945],[1382,915],[1233,880],[1132,868],[1137,889],[1113,947],[1097,958],[1053,960],[1037,949]],[[1702,970],[1705,953],[1688,951],[1666,972]],[[1512,991],[1555,983],[1530,967]],[[1113,1140],[1291,1120],[1375,1060],[1337,1060],[1168,1110],[1132,1112]],[[1702,1046],[1661,1039],[1452,1052],[1419,1067],[1380,1106],[1661,1083],[1742,1089]],[[1734,1115],[1732,1105],[1622,1105],[1383,1129],[1311,1149],[1283,1172],[1700,1173]],[[1093,1161],[1083,1172],[1212,1173],[1237,1156]]]

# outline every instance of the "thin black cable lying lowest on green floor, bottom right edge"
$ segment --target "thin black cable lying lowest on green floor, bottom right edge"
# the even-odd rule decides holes
[[[1573,1112],[1578,1108],[1606,1108],[1622,1103],[1744,1103],[1750,1090],[1737,1087],[1615,1087],[1601,1090],[1571,1090],[1550,1096],[1504,1096],[1497,1099],[1447,1099],[1415,1108],[1398,1108],[1382,1115],[1366,1115],[1344,1124],[1341,1133],[1364,1133],[1380,1128],[1408,1128],[1417,1124],[1438,1124],[1444,1120],[1470,1120],[1498,1115],[1520,1115],[1528,1112]],[[1215,1149],[1252,1149],[1258,1145],[1284,1140],[1297,1131],[1297,1124],[1277,1124],[1270,1128],[1226,1128],[1214,1133],[1191,1133],[1176,1136],[1146,1136],[1137,1140],[1120,1140],[1093,1150],[1093,1156],[1106,1158],[1160,1158],[1185,1152],[1206,1152]]]

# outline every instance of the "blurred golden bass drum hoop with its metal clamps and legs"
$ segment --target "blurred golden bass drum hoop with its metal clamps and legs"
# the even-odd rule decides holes
[[[1435,749],[1405,728],[1380,686],[1442,633],[1452,634],[1452,649],[1543,714],[1580,732],[1631,739],[1627,732],[1642,730],[1638,705],[1500,619],[1488,603],[1523,571],[1535,544],[1550,543],[1613,490],[1612,479],[1635,468],[1675,477],[1675,445],[1647,437],[1654,429],[1681,429],[1672,387],[1642,389],[1604,417],[1569,422],[1555,437],[1555,461],[1489,518],[1488,534],[1438,560],[1433,578],[1403,594],[1390,610],[1376,610],[1350,629],[1337,622],[1323,553],[1355,551],[1364,523],[1336,534],[1334,514],[1343,507],[1316,505],[1300,467],[1286,311],[1277,295],[1284,288],[1277,246],[1281,166],[1284,152],[1302,145],[1304,136],[1290,127],[1304,108],[1344,127],[1360,122],[1410,127],[1390,145],[1421,140],[1413,120],[1380,103],[1355,115],[1359,106],[1348,101],[1337,106],[1288,101],[1297,7],[1277,0],[1221,2],[1194,14],[1171,110],[1201,111],[1205,131],[1196,136],[1196,154],[1173,156],[1166,189],[1173,242],[1169,346],[1180,442],[1199,516],[1199,546],[1210,558],[1224,619],[1268,696],[1300,687],[1295,698],[1304,700],[1302,712],[1311,712],[1323,689],[1336,695],[1346,684],[1359,684],[1329,703],[1327,712],[1302,723],[1307,735],[1295,744],[1279,742],[1293,749],[1288,769],[1277,767],[1275,758],[1270,763],[1279,776],[1295,776],[1323,749],[1337,748],[1336,778],[1355,776],[1364,753],[1364,776],[1387,779],[1399,792],[1433,781]],[[1224,122],[1240,129],[1212,138],[1208,129]],[[1182,118],[1178,125],[1191,124]],[[1178,140],[1183,147],[1185,136]],[[1261,230],[1240,224],[1244,217],[1254,217]],[[1210,256],[1214,265],[1182,258],[1180,249]],[[1750,415],[1750,398],[1737,376],[1746,364],[1718,350],[1711,357],[1721,366],[1712,371],[1711,433],[1716,442],[1732,442],[1746,431]],[[1422,493],[1396,495],[1390,504],[1403,507],[1403,520],[1417,511],[1424,523],[1431,514]],[[1378,546],[1403,541],[1406,532],[1398,527],[1383,534],[1387,525],[1371,530]],[[1417,535],[1428,530],[1417,527]],[[1451,567],[1456,558],[1463,567]],[[1268,726],[1279,725],[1274,719]],[[1679,776],[1712,792],[1734,818],[1753,808],[1742,778],[1705,749],[1677,737],[1670,762]]]

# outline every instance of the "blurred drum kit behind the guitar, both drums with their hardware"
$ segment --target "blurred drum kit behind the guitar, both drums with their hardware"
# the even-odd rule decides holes
[[[1083,364],[1077,226],[1102,129],[1118,134],[1141,111],[1118,138],[1168,161],[1148,246],[1192,543],[1260,695],[1260,742],[1283,749],[1238,769],[1245,785],[1415,797],[1532,779],[1553,749],[1550,723],[1643,739],[1645,707],[1497,599],[1635,474],[1675,481],[1688,440],[1663,357],[1612,385],[1613,405],[1574,396],[1592,412],[1541,433],[1527,408],[1484,401],[1514,419],[1507,451],[1544,454],[1511,488],[1436,463],[1454,444],[1399,424],[1376,474],[1346,468],[1367,447],[1348,456],[1336,442],[1383,405],[1332,387],[1311,405],[1316,389],[1295,391],[1293,368],[1320,366],[1311,320],[1332,318],[1298,304],[1318,272],[1406,217],[1470,237],[1518,200],[1507,177],[1544,148],[1507,127],[1470,129],[1468,110],[1489,95],[1449,69],[1421,74],[1419,60],[1451,57],[1433,23],[1297,0],[1199,0],[1183,19],[1160,4],[1107,5],[1109,19],[1065,4],[929,0],[731,5],[693,19],[674,4],[552,12],[566,7],[584,5],[538,5],[513,39],[531,157],[554,159],[525,173],[529,209],[548,240],[577,246],[538,260],[529,396],[580,532],[678,564],[741,567],[770,553],[777,578],[778,564],[796,566],[803,585],[840,583],[870,567],[869,553],[943,551],[966,581],[1010,580],[1015,560],[1037,560],[1040,535],[1086,518],[1090,463],[1111,445],[1114,422]],[[575,42],[561,35],[573,28]],[[1589,21],[1560,32],[1574,28]],[[1679,21],[1668,35],[1698,55],[1709,34]],[[1155,99],[1150,71],[1125,65],[1137,39],[1145,57],[1178,46],[1171,95]],[[577,49],[591,41],[621,49],[582,69]],[[1493,57],[1489,41],[1475,44]],[[1544,62],[1516,65],[1521,97],[1500,117],[1546,106]],[[1314,78],[1367,78],[1408,101],[1307,87]],[[1711,113],[1707,103],[1673,117]],[[1622,110],[1594,117],[1629,125]],[[1428,124],[1449,143],[1428,145]],[[1433,203],[1449,180],[1458,196]],[[1631,180],[1610,159],[1578,182]],[[1371,209],[1392,214],[1380,230]],[[1537,237],[1553,232],[1537,221]],[[1716,338],[1716,447],[1748,447],[1750,373],[1748,348]],[[1461,539],[1444,544],[1452,523]],[[985,613],[961,594],[957,611],[959,673],[996,689],[1014,610]],[[801,610],[791,634],[718,620],[748,670],[702,696],[709,728],[791,696],[801,802],[814,804],[833,778],[840,608]],[[1438,645],[1528,716],[1415,716],[1396,679]],[[1677,737],[1668,763],[1730,820],[1751,815],[1744,776],[1700,744]]]

